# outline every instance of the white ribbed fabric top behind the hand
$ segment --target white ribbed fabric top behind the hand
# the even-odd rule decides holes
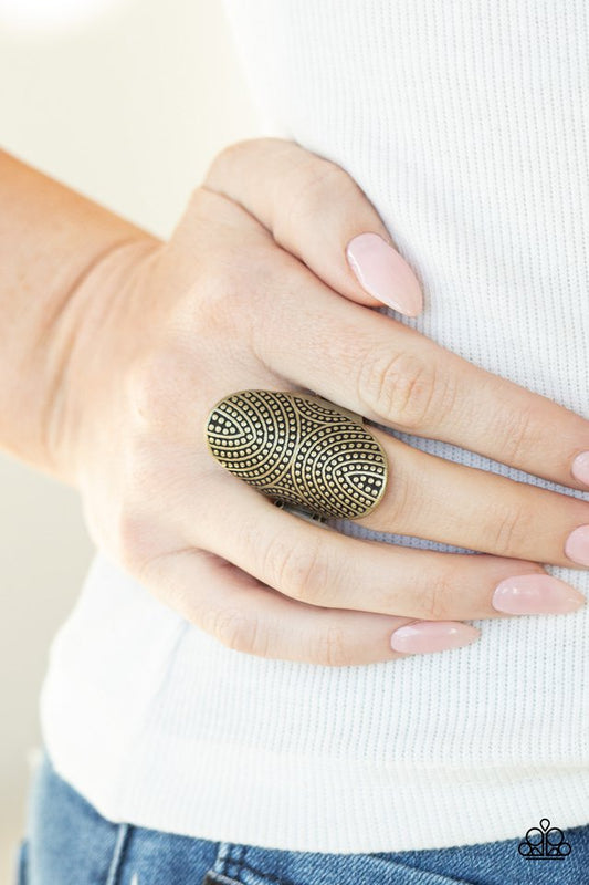
[[[416,269],[427,309],[401,322],[589,417],[585,0],[227,9],[263,132],[346,168]],[[477,643],[399,662],[264,660],[98,558],[53,644],[44,738],[105,816],[211,840],[381,852],[587,823],[589,608],[473,623]]]

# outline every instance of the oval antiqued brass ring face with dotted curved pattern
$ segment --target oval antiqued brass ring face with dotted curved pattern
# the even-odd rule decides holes
[[[382,498],[387,456],[355,413],[311,394],[238,391],[207,418],[219,464],[276,502],[359,519]]]

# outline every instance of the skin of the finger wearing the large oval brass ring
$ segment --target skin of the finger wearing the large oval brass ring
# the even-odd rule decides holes
[[[194,446],[192,440],[202,440],[209,406],[232,387],[227,379],[215,378],[210,403],[194,403],[194,408],[187,412],[186,402],[202,384],[197,369],[189,343],[185,347],[177,344],[169,357],[156,361],[141,388],[148,392],[147,402],[144,396],[137,403],[149,423],[157,418],[168,439],[181,447],[190,441],[187,471],[194,470],[198,461],[202,472],[221,472],[209,450]],[[242,372],[235,385],[240,388],[284,387],[284,379],[267,371],[255,375],[249,374],[250,369]],[[150,408],[154,403],[156,416]],[[569,413],[564,412],[567,417]],[[568,568],[589,564],[586,550],[583,555],[589,502],[455,465],[407,446],[378,428],[371,431],[387,452],[390,479],[378,507],[360,520],[367,527],[501,556]],[[176,452],[169,461],[178,462]]]

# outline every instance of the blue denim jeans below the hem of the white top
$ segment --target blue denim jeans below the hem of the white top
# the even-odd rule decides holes
[[[570,852],[557,860],[526,860],[518,852],[522,839],[376,854],[323,854],[211,842],[106,821],[55,773],[45,756],[31,790],[17,883],[586,885],[589,824],[565,831],[564,837]]]

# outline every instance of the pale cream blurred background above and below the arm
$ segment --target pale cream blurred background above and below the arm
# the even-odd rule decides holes
[[[219,0],[0,0],[0,146],[148,230],[260,132]],[[0,454],[1,885],[49,644],[91,556],[75,492]]]

